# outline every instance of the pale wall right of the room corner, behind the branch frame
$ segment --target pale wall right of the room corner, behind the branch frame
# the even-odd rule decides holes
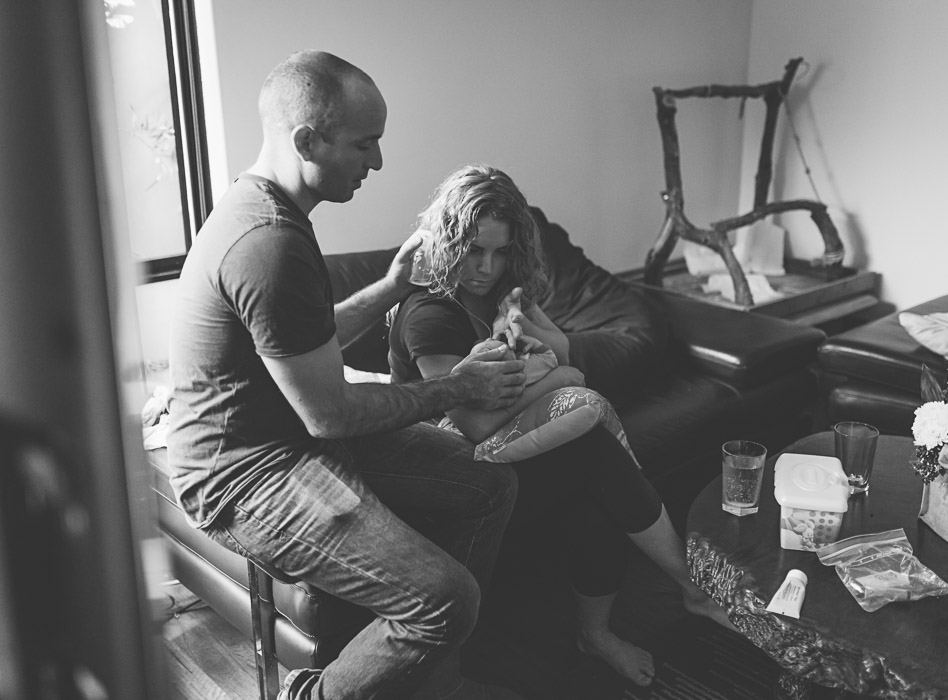
[[[946,36],[944,0],[753,6],[748,81],[779,78],[794,56],[810,64],[789,105],[816,190],[840,229],[844,262],[882,273],[882,296],[899,308],[948,293]],[[814,198],[785,115],[781,124],[773,198]],[[743,206],[759,133],[748,119]],[[794,257],[822,253],[806,215],[785,225]]]

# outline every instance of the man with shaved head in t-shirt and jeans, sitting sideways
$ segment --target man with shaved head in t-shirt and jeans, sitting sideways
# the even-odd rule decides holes
[[[410,237],[378,282],[333,298],[308,218],[382,167],[386,106],[328,53],[280,63],[260,92],[263,146],[188,253],[172,327],[171,484],[194,527],[377,618],[281,698],[516,698],[462,680],[513,508],[506,465],[419,423],[457,406],[510,405],[523,363],[465,358],[441,379],[348,384],[341,348],[408,295]],[[422,536],[399,513],[422,513]]]

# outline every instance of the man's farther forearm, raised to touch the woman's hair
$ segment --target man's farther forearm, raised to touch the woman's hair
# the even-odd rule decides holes
[[[412,255],[423,240],[424,234],[415,231],[398,249],[385,277],[335,305],[336,337],[341,347],[356,340],[389,309],[417,289],[408,278],[411,276]]]

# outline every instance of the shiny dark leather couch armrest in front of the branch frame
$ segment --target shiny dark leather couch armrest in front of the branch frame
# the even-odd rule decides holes
[[[818,328],[662,292],[671,333],[703,372],[753,386],[816,361]]]

